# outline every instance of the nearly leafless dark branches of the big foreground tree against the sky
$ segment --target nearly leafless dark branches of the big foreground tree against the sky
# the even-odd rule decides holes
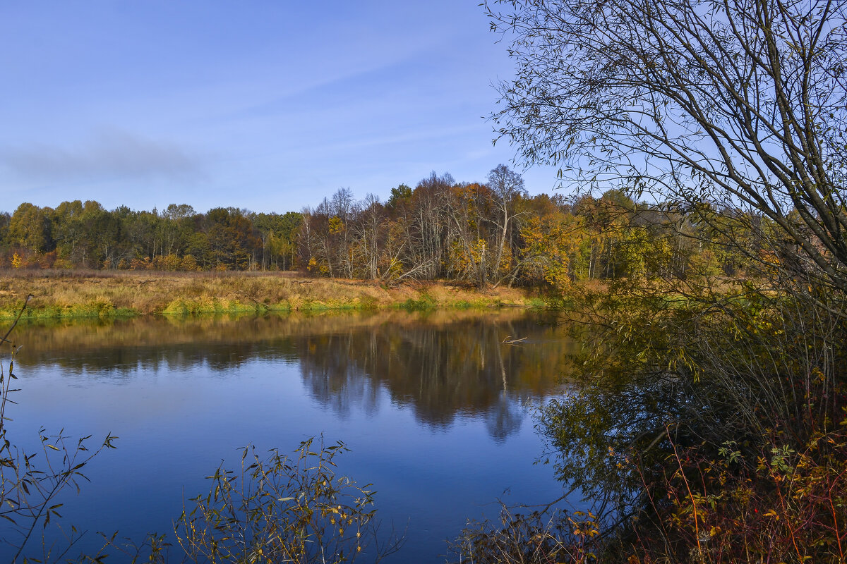
[[[501,0],[493,116],[529,162],[686,209],[740,208],[847,292],[844,0]]]

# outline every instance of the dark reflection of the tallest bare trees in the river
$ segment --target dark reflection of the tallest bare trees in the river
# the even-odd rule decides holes
[[[556,372],[549,364],[561,358],[562,342],[504,345],[509,331],[538,333],[540,327],[519,318],[497,321],[383,324],[292,342],[312,397],[341,416],[353,404],[376,408],[377,391],[384,386],[392,402],[412,408],[424,424],[446,426],[457,415],[476,416],[502,440],[523,419],[513,403],[554,385]],[[533,362],[538,348],[545,350],[546,363]]]

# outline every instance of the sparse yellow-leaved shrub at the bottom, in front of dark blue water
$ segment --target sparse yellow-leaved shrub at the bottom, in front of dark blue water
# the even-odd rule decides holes
[[[177,519],[180,547],[191,561],[213,562],[378,561],[398,550],[393,534],[379,545],[374,492],[335,475],[346,450],[314,439],[294,458],[244,448],[240,471],[218,468],[209,493]]]

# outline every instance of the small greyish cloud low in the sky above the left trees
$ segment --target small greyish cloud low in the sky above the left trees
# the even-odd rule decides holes
[[[36,144],[0,148],[0,166],[22,178],[203,178],[201,159],[173,143],[109,129],[75,147]]]

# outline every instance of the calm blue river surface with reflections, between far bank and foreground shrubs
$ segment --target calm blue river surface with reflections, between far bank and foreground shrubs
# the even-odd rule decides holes
[[[238,447],[291,452],[323,433],[352,449],[339,474],[374,485],[383,528],[407,529],[392,561],[443,561],[445,539],[496,517],[497,498],[562,494],[534,464],[530,415],[556,393],[570,347],[549,321],[495,310],[26,326],[10,435],[30,446],[40,426],[119,436],[81,495],[63,499],[90,550],[97,531],[171,530]]]

